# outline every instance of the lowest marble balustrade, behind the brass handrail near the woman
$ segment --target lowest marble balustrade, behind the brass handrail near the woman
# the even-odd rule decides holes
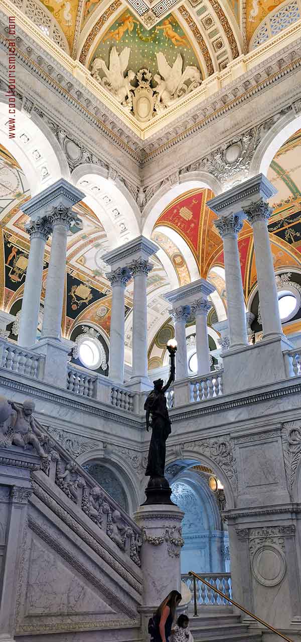
[[[212,589],[203,584],[202,580],[196,579],[196,603],[200,606],[220,606],[230,604],[226,598],[222,598],[213,588],[221,591],[227,598],[232,598],[232,584],[230,573],[198,573],[206,582],[211,584]],[[193,577],[188,573],[182,573],[182,581],[185,582],[191,591],[191,602],[193,602]]]

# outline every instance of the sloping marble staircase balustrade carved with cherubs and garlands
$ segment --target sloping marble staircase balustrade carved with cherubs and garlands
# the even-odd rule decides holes
[[[33,447],[41,462],[39,471],[32,473],[33,492],[37,497],[47,504],[48,489],[51,488],[53,496],[55,487],[58,487],[123,553],[141,566],[142,538],[139,526],[56,442],[51,431],[41,426],[32,415],[35,404],[30,404],[3,403],[5,412],[9,414],[2,424],[0,447]],[[27,432],[24,432],[24,427]],[[72,514],[72,506],[70,508]]]

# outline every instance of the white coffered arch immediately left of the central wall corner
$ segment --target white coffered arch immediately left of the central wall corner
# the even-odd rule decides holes
[[[107,169],[86,163],[74,169],[71,180],[86,193],[84,202],[99,215],[110,248],[139,236],[139,207],[120,180],[108,178]],[[99,191],[93,193],[94,187]],[[107,204],[105,196],[110,200]]]

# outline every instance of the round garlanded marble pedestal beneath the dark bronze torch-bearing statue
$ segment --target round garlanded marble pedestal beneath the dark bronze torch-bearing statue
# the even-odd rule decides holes
[[[134,514],[142,528],[141,570],[143,593],[141,625],[148,640],[148,620],[164,598],[181,590],[180,551],[184,544],[181,522],[184,512],[173,504],[143,505]]]

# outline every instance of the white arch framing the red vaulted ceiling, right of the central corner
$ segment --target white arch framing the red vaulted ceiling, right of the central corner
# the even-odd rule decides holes
[[[221,193],[221,184],[211,174],[205,171],[192,171],[180,175],[178,184],[171,186],[169,182],[164,183],[151,197],[142,213],[142,234],[147,238],[151,237],[153,226],[160,214],[174,198],[189,191],[189,189],[212,189],[215,195]]]

